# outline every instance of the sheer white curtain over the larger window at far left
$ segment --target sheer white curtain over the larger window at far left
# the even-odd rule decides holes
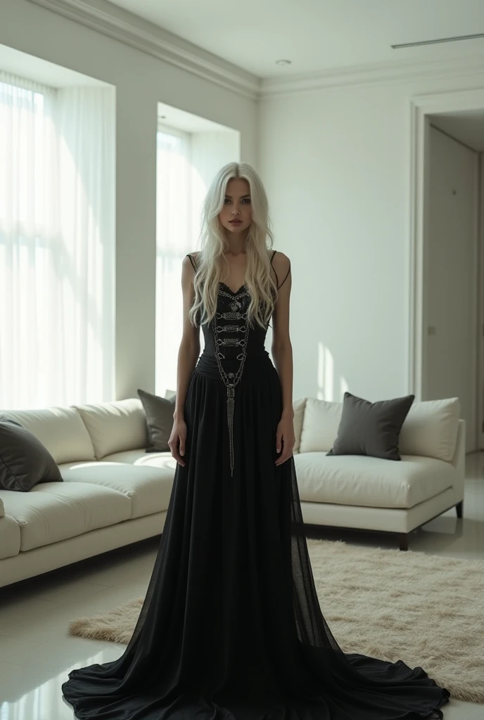
[[[114,396],[114,89],[0,73],[0,408]]]

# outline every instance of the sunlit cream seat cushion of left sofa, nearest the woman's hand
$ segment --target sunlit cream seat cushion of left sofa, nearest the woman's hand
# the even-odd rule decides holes
[[[174,472],[170,468],[143,467],[121,462],[88,462],[60,466],[64,482],[90,483],[111,488],[130,501],[131,518],[141,518],[167,510]]]

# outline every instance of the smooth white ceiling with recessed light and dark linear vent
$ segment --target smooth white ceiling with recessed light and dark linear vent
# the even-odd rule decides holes
[[[484,0],[112,0],[261,78],[484,53]],[[292,65],[281,68],[276,60]]]

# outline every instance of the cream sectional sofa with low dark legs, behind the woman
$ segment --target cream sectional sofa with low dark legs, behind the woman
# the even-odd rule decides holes
[[[326,456],[342,404],[295,401],[295,465],[308,528],[408,534],[464,496],[465,425],[455,400],[415,403],[400,436],[402,461]],[[0,490],[0,587],[163,531],[176,462],[145,453],[138,399],[1,413],[48,448],[64,482]]]

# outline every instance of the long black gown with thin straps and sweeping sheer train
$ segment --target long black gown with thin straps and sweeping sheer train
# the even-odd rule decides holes
[[[248,299],[220,283],[202,326],[186,464],[133,636],[118,660],[72,670],[63,695],[79,719],[442,718],[449,691],[421,667],[345,654],[323,618],[294,459],[274,464],[279,376]]]

